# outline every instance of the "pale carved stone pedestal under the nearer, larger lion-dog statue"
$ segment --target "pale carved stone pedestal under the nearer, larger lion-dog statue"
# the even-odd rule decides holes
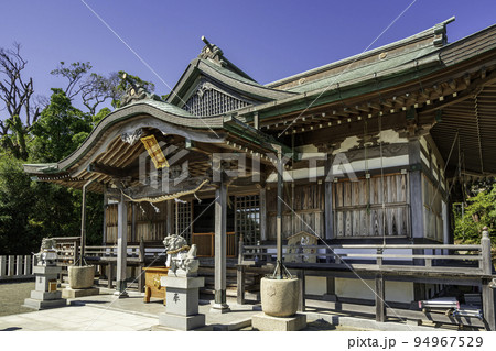
[[[162,276],[160,283],[166,288],[166,312],[160,314],[160,326],[175,330],[205,326],[205,315],[198,314],[198,288],[204,286],[204,277]]]

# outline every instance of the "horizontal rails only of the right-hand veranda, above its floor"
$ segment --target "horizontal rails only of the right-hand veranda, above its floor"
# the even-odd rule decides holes
[[[299,248],[303,250],[300,250],[300,253],[294,253],[290,252],[290,246],[283,246],[285,265],[376,270],[382,272],[429,271],[477,275],[490,275],[493,270],[490,240],[488,237],[483,238],[479,245],[347,244],[304,245]],[[240,244],[238,251],[239,264],[249,265],[276,262],[276,245]],[[309,251],[312,251],[312,253]],[[313,260],[311,260],[312,257]]]

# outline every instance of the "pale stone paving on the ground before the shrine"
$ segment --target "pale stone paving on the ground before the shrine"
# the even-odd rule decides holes
[[[9,288],[11,288],[10,286]],[[0,331],[144,331],[163,330],[159,326],[159,314],[165,311],[162,300],[143,303],[143,294],[130,292],[128,298],[119,299],[111,290],[101,289],[100,295],[68,300],[67,307],[41,311],[22,312],[19,306],[10,316],[0,317]],[[22,294],[21,294],[22,295]],[[22,299],[12,299],[22,304]],[[18,301],[19,300],[19,301]],[[0,304],[6,304],[2,296]],[[228,314],[211,312],[211,301],[201,300],[198,311],[205,314],[206,325],[214,330],[251,330],[251,317],[261,314],[259,305],[237,305],[228,299]],[[12,304],[10,304],[12,305]],[[11,310],[14,310],[11,308]],[[366,331],[366,330],[425,330],[425,327],[410,327],[402,323],[376,323],[351,317],[339,317],[328,311],[308,308],[308,327],[311,331]],[[345,326],[343,326],[345,325]],[[429,328],[432,330],[432,328]]]

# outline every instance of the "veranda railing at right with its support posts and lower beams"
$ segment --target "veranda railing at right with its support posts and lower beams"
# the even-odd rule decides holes
[[[291,246],[294,249],[294,246]],[[283,246],[284,265],[295,271],[304,292],[305,275],[345,276],[354,278],[359,274],[375,279],[375,306],[355,305],[355,303],[331,303],[331,309],[371,314],[377,321],[388,316],[414,320],[430,319],[435,322],[468,325],[486,330],[496,330],[495,283],[490,256],[490,239],[484,228],[479,245],[453,244],[385,244],[385,245],[302,245],[300,250]],[[306,250],[306,251],[305,251]],[[273,272],[276,265],[276,245],[244,245],[239,242],[237,265],[237,301],[245,303],[246,272]],[[295,253],[296,251],[298,253]],[[288,262],[293,261],[293,262]],[[294,262],[295,261],[295,262]],[[312,262],[309,262],[312,261]],[[349,271],[349,272],[344,272]],[[386,305],[386,279],[400,275],[400,281],[417,283],[449,283],[450,285],[478,286],[482,295],[483,319],[475,317],[388,308]],[[334,294],[334,293],[332,293]],[[300,294],[299,308],[304,310],[305,294]],[[334,298],[338,298],[334,296]]]

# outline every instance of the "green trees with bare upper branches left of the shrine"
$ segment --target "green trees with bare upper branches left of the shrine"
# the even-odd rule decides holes
[[[35,97],[32,78],[25,78],[28,61],[0,47],[0,254],[29,254],[42,238],[76,237],[80,231],[82,191],[52,183],[33,182],[23,163],[55,163],[73,153],[111,111],[128,89],[125,72],[107,76],[91,73],[90,63],[61,62],[51,74],[66,79],[52,89],[50,101]],[[128,75],[132,83],[154,90],[152,83]],[[87,111],[73,106],[79,98]],[[100,108],[100,109],[99,109]],[[98,110],[99,109],[99,110]],[[101,242],[103,197],[87,194],[88,244]]]

